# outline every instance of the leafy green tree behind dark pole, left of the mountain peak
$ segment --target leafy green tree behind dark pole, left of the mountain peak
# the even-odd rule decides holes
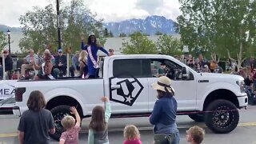
[[[72,51],[80,50],[81,35],[87,37],[94,33],[101,45],[104,46],[106,39],[102,33],[102,19],[95,20],[96,14],[86,9],[83,0],[72,0],[61,6],[61,30],[62,47],[72,47]],[[58,48],[57,17],[53,5],[44,8],[34,7],[20,17],[24,38],[19,43],[24,52],[30,48],[35,51],[42,50],[50,44],[54,50]]]

